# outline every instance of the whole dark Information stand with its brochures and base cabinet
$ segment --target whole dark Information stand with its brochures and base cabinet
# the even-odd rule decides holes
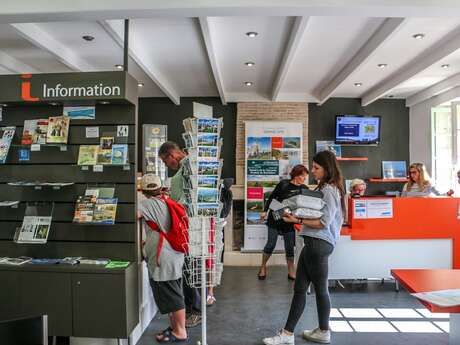
[[[48,314],[49,335],[90,338],[138,324],[137,90],[122,71],[0,76],[0,319]]]

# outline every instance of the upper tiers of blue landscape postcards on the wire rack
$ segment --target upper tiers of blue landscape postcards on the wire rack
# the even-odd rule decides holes
[[[221,207],[222,119],[189,118],[183,123],[185,133],[182,137],[188,152],[183,163],[187,213],[191,217],[217,217]]]

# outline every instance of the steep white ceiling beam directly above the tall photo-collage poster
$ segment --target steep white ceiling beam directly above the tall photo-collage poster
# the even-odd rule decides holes
[[[296,17],[294,24],[291,29],[291,34],[289,35],[289,40],[284,49],[284,55],[281,59],[280,66],[278,68],[278,73],[275,78],[272,90],[272,101],[276,102],[280,94],[281,86],[283,85],[286,75],[291,66],[292,60],[299,48],[300,43],[302,42],[302,37],[305,33],[308,23],[308,17]]]

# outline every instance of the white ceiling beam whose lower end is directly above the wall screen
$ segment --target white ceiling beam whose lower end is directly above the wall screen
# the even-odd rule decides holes
[[[375,88],[366,92],[361,99],[362,105],[366,106],[374,102],[398,85],[413,78],[458,49],[460,49],[460,28],[448,34],[437,44],[401,67]]]

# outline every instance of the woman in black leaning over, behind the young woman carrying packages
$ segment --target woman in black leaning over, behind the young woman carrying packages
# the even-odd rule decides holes
[[[261,218],[265,219],[267,216],[267,211],[270,206],[270,203],[273,199],[281,202],[284,199],[290,198],[291,196],[300,194],[302,189],[308,189],[305,185],[305,179],[308,176],[308,169],[302,165],[298,164],[292,168],[290,172],[290,180],[280,181],[273,192],[270,194],[267,202],[265,203],[265,208]],[[259,280],[264,280],[267,276],[267,262],[270,259],[270,256],[273,253],[273,250],[276,247],[276,242],[278,241],[278,235],[284,237],[284,250],[286,252],[286,262],[288,266],[288,279],[295,279],[295,267],[294,267],[294,246],[295,246],[295,230],[294,226],[291,223],[286,223],[284,220],[275,220],[271,212],[268,213],[267,219],[268,225],[268,238],[267,243],[264,247],[264,252],[262,254],[262,266],[260,267],[258,278]]]

